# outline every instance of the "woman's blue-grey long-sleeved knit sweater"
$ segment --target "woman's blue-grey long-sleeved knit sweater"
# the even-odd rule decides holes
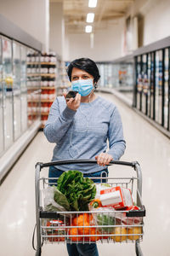
[[[57,97],[50,108],[44,134],[50,143],[56,143],[52,160],[93,160],[101,152],[119,160],[126,148],[120,114],[113,103],[100,96],[94,102],[81,102],[77,111],[67,108],[64,96]],[[97,164],[56,167],[85,173],[105,169]]]

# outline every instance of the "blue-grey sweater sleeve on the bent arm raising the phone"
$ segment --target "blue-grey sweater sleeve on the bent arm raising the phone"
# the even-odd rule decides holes
[[[43,129],[49,143],[59,143],[68,131],[76,111],[68,107],[59,113],[58,99],[52,104],[46,125]]]

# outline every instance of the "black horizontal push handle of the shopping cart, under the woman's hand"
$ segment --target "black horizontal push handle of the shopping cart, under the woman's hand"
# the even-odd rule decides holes
[[[40,166],[40,169],[43,167],[49,167],[49,166],[61,166],[61,165],[71,165],[71,164],[97,164],[97,160],[82,160],[82,159],[77,159],[77,160],[57,160],[57,161],[52,161],[48,163],[41,163],[38,162],[36,164]],[[111,166],[111,165],[122,165],[122,166],[132,166],[135,167],[137,164],[139,164],[137,161],[134,162],[127,162],[127,161],[120,161],[120,160],[111,160],[109,165],[106,166]]]

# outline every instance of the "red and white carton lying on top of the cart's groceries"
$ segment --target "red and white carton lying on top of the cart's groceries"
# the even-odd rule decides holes
[[[103,207],[122,209],[133,206],[133,198],[130,189],[120,186],[100,191],[100,201]]]

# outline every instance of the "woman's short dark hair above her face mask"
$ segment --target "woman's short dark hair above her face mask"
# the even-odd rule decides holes
[[[99,81],[99,78],[100,78],[99,69],[94,61],[88,58],[81,58],[81,59],[72,61],[69,67],[67,68],[67,74],[70,81],[71,81],[71,73],[72,73],[73,67],[77,67],[91,74],[94,77],[94,83],[97,83]]]

